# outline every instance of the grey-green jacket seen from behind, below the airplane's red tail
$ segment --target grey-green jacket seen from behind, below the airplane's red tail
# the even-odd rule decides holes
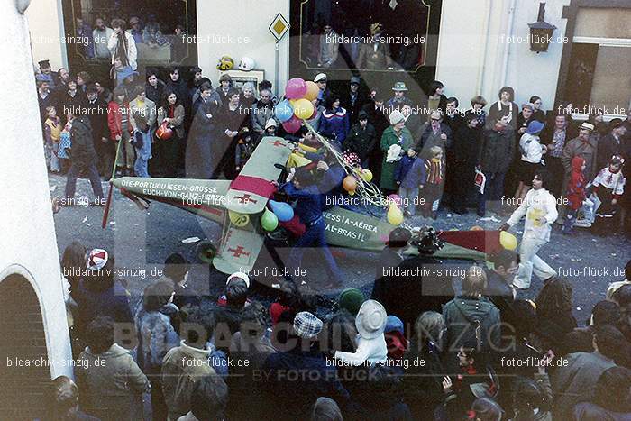
[[[498,349],[501,341],[499,310],[489,298],[455,297],[445,304],[443,316],[449,351],[472,343],[478,343],[484,351]],[[480,329],[479,334],[477,329]]]

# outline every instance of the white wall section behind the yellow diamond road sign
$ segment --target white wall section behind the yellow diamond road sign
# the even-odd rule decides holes
[[[197,1],[197,34],[201,40],[207,37],[211,42],[197,45],[199,67],[204,75],[217,87],[219,71],[217,60],[229,55],[238,66],[242,56],[249,56],[256,61],[255,69],[265,70],[265,78],[274,83],[274,46],[276,39],[269,31],[270,23],[276,14],[282,14],[289,21],[288,0],[203,0]],[[213,35],[229,35],[228,43],[212,42]],[[239,42],[241,38],[241,43]],[[289,74],[289,32],[279,42],[279,87],[276,92],[283,92]]]

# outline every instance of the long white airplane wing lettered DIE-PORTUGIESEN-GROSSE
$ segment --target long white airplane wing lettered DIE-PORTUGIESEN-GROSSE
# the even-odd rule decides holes
[[[122,177],[115,178],[113,183],[133,200],[156,200],[220,224],[224,222],[224,201],[230,180]]]

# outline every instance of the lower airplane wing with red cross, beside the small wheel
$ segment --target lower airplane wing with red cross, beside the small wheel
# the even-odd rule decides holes
[[[233,224],[230,224],[223,237],[213,266],[225,274],[251,271],[261,252],[263,237],[253,231],[240,230]]]

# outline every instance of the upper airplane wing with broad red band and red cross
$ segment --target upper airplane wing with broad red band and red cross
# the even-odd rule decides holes
[[[280,169],[274,164],[287,163],[291,147],[289,142],[266,136],[252,153],[241,172],[233,180],[225,195],[225,207],[240,214],[258,214],[276,188],[271,184],[279,178]]]

